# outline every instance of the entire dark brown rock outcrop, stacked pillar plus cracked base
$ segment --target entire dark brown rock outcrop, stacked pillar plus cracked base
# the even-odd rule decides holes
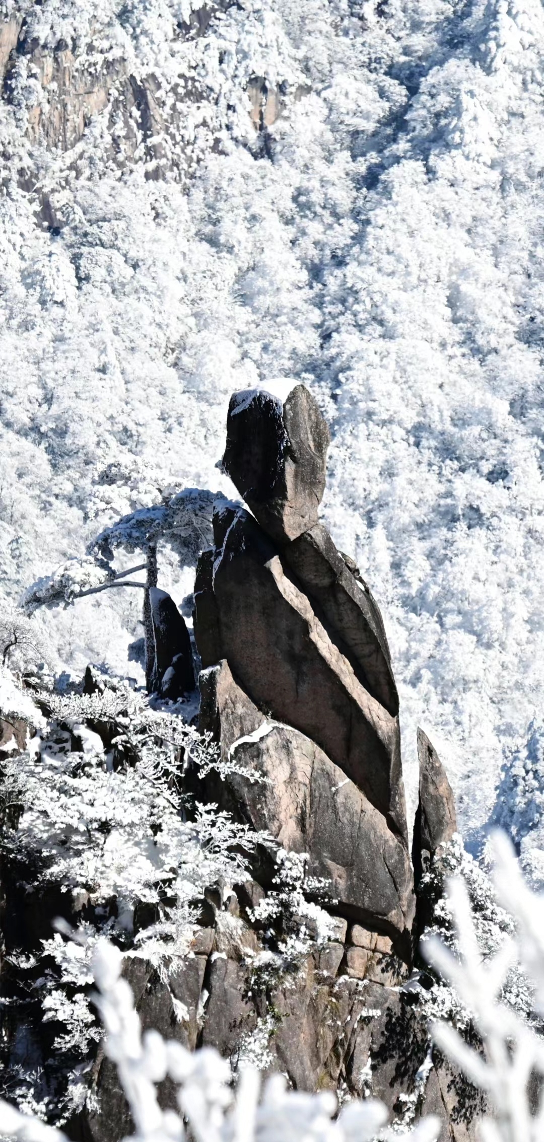
[[[171,780],[189,825],[198,821],[197,801],[248,829],[235,831],[232,851],[235,844],[242,860],[226,866],[229,882],[225,866],[210,875],[206,860],[198,887],[183,874],[183,891],[189,884],[194,899],[185,900],[190,914],[179,941],[170,876],[176,856],[170,868],[168,855],[157,894],[135,899],[134,914],[130,902],[125,974],[144,1029],[155,1028],[191,1049],[213,1045],[234,1072],[249,1060],[283,1072],[298,1089],[374,1094],[400,1126],[432,1110],[443,1124],[443,1142],[469,1142],[479,1096],[438,1053],[430,1057],[425,988],[432,981],[429,968],[410,974],[418,933],[432,919],[432,892],[442,891],[435,887],[439,877],[422,874],[437,871],[455,833],[454,798],[433,747],[418,731],[416,911],[391,656],[376,601],[318,520],[327,445],[327,426],[303,386],[285,402],[253,392],[231,400],[224,466],[254,514],[240,504],[217,502],[214,547],[199,558],[194,587],[200,729],[218,742],[221,757],[207,750],[199,756],[198,749],[191,756],[189,735]],[[176,699],[192,689],[192,650],[170,596],[151,587],[149,600],[152,706],[161,709],[157,694]],[[109,687],[114,694],[115,683],[88,667],[82,697],[107,698]],[[47,694],[35,700],[50,718],[55,703]],[[90,763],[107,766],[112,775],[137,766],[125,702],[104,701],[101,713],[98,701],[88,701],[85,725],[53,719],[47,745],[66,755],[70,780]],[[165,745],[163,715],[151,723],[158,746]],[[0,761],[23,751],[24,721],[6,718],[0,731]],[[168,732],[170,756],[177,726]],[[95,758],[86,754],[89,737]],[[163,805],[150,822],[150,851]],[[10,827],[18,812],[14,802]],[[299,880],[282,880],[285,867],[298,868]],[[208,883],[208,876],[217,879]],[[47,891],[38,882],[29,891],[32,877],[35,870],[16,861],[3,876],[7,995],[16,998],[19,988],[10,965],[30,963],[38,982],[24,1035],[50,1070],[55,1040],[51,1024],[43,1027],[37,951],[42,955],[54,917],[72,926],[96,924],[98,916],[110,923],[119,915],[118,900],[112,895],[95,906],[88,887],[66,893],[62,882],[46,884]],[[162,923],[165,916],[171,924]],[[158,970],[146,950],[153,950],[153,939],[146,944],[143,938],[161,925],[171,943],[162,946]],[[13,952],[24,955],[17,960]],[[2,1048],[7,1069],[18,1065],[21,1029],[10,1018]],[[67,1124],[69,1136],[119,1142],[131,1124],[102,1048],[90,1086],[85,1109]],[[161,1104],[173,1104],[173,1097],[162,1084]]]

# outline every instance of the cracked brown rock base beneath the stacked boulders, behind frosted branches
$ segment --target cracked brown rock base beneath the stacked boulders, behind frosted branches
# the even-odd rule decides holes
[[[247,963],[218,950],[225,916],[210,930],[208,954],[197,949],[183,965],[173,965],[167,978],[145,960],[127,962],[126,975],[145,1029],[157,1029],[190,1049],[215,1046],[235,1071],[243,1060],[255,1060],[263,1027],[269,1027],[261,1065],[265,1072],[285,1073],[295,1089],[373,1095],[400,1121],[406,1121],[410,1108],[414,1118],[437,1115],[442,1124],[439,1142],[474,1139],[483,1100],[438,1052],[429,1057],[426,1020],[413,992],[384,986],[383,976],[374,982],[367,974],[361,982],[358,972],[341,974],[334,955],[337,948],[345,955],[345,949],[334,943],[307,956],[297,974],[288,973],[263,990]],[[349,960],[358,952],[367,955],[349,946]],[[183,1020],[176,1016],[176,1002],[185,1008]],[[126,1136],[127,1107],[114,1067],[102,1053],[91,1089],[95,1097],[85,1112],[82,1136],[94,1142]],[[174,1108],[174,1097],[163,1084],[161,1104]],[[72,1134],[79,1134],[77,1126]]]

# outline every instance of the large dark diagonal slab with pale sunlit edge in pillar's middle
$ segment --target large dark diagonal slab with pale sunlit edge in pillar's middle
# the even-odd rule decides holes
[[[408,847],[398,718],[359,682],[255,520],[222,507],[214,531],[221,645],[237,682],[315,742]]]

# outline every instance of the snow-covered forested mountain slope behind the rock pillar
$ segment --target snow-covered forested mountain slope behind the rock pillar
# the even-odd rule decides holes
[[[165,489],[229,490],[230,393],[303,379],[408,782],[421,723],[475,838],[544,695],[541,5],[240,0],[199,37],[190,0],[5,21],[24,11],[0,120],[6,592]],[[110,69],[66,150],[35,110],[61,41]],[[120,126],[128,74],[159,91],[154,142]],[[257,130],[263,79],[281,113]],[[190,572],[161,566],[181,598]],[[114,594],[39,616],[57,668],[126,669],[141,598]]]

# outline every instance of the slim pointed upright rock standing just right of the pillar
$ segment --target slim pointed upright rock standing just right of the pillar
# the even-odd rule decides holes
[[[455,798],[446,770],[423,730],[417,731],[419,799],[414,822],[411,860],[416,882],[424,868],[457,831]]]

